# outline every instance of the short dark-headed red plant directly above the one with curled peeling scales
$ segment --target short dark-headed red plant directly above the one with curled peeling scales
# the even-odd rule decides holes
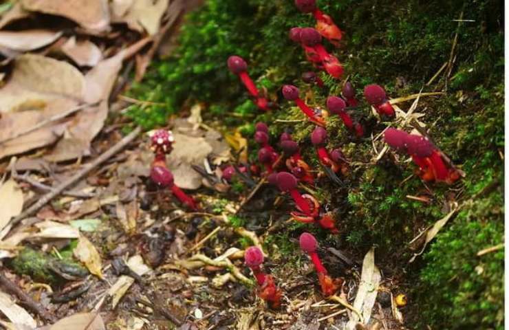
[[[301,148],[299,148],[297,142],[292,140],[292,135],[288,133],[281,134],[281,137],[279,137],[279,146],[283,150],[283,155],[288,157],[285,162],[288,170],[290,170],[299,181],[314,184],[311,168],[302,159]]]

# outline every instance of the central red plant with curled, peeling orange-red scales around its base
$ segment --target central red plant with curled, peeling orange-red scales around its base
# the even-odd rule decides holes
[[[338,232],[330,214],[321,212],[318,200],[312,195],[301,195],[297,189],[297,179],[294,175],[288,172],[279,172],[272,180],[279,190],[289,192],[292,196],[298,210],[290,213],[293,219],[302,223],[317,223],[332,233]]]

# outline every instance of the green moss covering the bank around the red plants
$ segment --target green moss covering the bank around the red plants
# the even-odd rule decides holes
[[[314,232],[360,256],[376,245],[382,267],[404,274],[409,327],[503,329],[503,249],[478,255],[503,243],[503,2],[321,0],[318,5],[345,31],[343,46],[334,52],[359,98],[370,83],[385,86],[393,98],[444,91],[421,98],[416,111],[425,114],[420,120],[429,134],[466,177],[453,186],[425,185],[413,175],[413,164],[402,158],[396,162],[392,153],[374,164],[371,136],[388,123],[377,122],[361,107],[356,116],[368,133],[361,140],[338,120],[327,122],[329,144],[342,147],[354,165],[345,187],[322,179],[316,192],[334,209],[340,234]],[[201,102],[208,124],[225,132],[239,129],[250,140],[257,121],[270,124],[274,141],[292,129],[305,158],[316,165],[307,137],[312,125],[285,122],[302,116],[280,92],[283,83],[298,85],[308,102],[323,107],[327,96],[340,91],[341,84],[325,74],[325,89],[299,79],[312,67],[288,39],[288,30],[312,25],[313,18],[298,12],[291,0],[206,1],[188,14],[173,54],[153,65],[147,80],[133,88],[134,97],[162,104],[134,106],[129,116],[149,129]],[[260,113],[248,100],[226,68],[232,54],[248,61],[250,75],[279,109]],[[407,110],[411,102],[399,106]],[[409,241],[444,217],[451,203],[459,210],[409,264],[415,252]],[[288,238],[298,237],[302,228],[285,228],[266,243],[278,245],[290,260],[296,246]]]

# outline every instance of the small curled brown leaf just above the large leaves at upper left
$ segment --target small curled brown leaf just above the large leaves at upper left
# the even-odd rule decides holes
[[[62,52],[80,67],[94,67],[102,60],[102,52],[89,40],[76,41],[72,36],[62,45]]]

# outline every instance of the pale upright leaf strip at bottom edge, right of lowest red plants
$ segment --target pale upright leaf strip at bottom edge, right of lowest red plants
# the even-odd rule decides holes
[[[360,283],[354,300],[354,308],[361,311],[363,320],[360,320],[356,313],[352,313],[347,323],[347,329],[356,329],[358,322],[362,322],[364,325],[369,323],[371,310],[373,309],[373,305],[375,305],[376,296],[378,294],[380,279],[380,271],[375,265],[375,249],[371,248],[364,257],[364,261],[362,261]]]

